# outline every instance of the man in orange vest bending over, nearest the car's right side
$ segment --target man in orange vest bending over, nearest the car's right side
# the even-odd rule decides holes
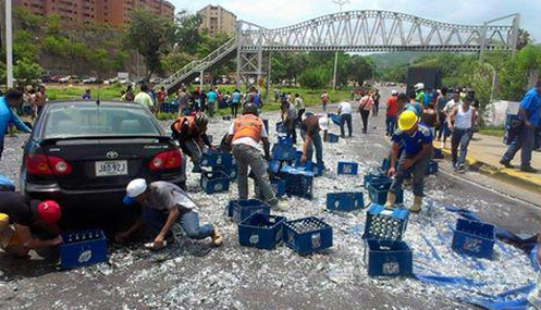
[[[197,113],[195,116],[180,116],[171,125],[173,139],[179,141],[183,153],[181,188],[184,190],[186,190],[187,157],[192,159],[194,170],[197,170],[201,162],[204,145],[212,148],[210,139],[207,137],[208,124],[209,117],[205,113]]]

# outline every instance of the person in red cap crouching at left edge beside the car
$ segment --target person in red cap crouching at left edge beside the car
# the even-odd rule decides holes
[[[17,257],[29,250],[46,256],[62,244],[58,222],[62,216],[54,201],[38,201],[14,191],[0,191],[0,248]]]

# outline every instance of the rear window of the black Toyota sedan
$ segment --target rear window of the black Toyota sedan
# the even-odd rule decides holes
[[[139,107],[75,102],[51,106],[45,116],[45,139],[162,135],[150,113]]]

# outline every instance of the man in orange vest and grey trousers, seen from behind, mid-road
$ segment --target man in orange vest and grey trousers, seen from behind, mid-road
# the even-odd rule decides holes
[[[261,152],[258,150],[259,141],[262,141],[265,157],[267,160],[271,160],[267,129],[258,115],[257,107],[254,103],[246,103],[243,115],[236,119],[231,125],[226,145],[233,145],[233,156],[238,164],[237,183],[239,199],[248,199],[249,166],[265,201],[271,204],[271,207],[279,207],[279,201],[270,185],[269,174],[261,159]]]

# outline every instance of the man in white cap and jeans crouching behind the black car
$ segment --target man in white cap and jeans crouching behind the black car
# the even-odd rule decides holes
[[[130,182],[124,203],[135,202],[143,207],[142,215],[132,227],[115,236],[119,243],[124,241],[132,233],[146,225],[152,234],[156,234],[153,248],[161,249],[171,226],[179,223],[193,239],[211,237],[214,246],[222,244],[222,236],[213,225],[199,225],[199,214],[197,214],[194,200],[172,183],[158,181],[148,184],[144,178]]]

